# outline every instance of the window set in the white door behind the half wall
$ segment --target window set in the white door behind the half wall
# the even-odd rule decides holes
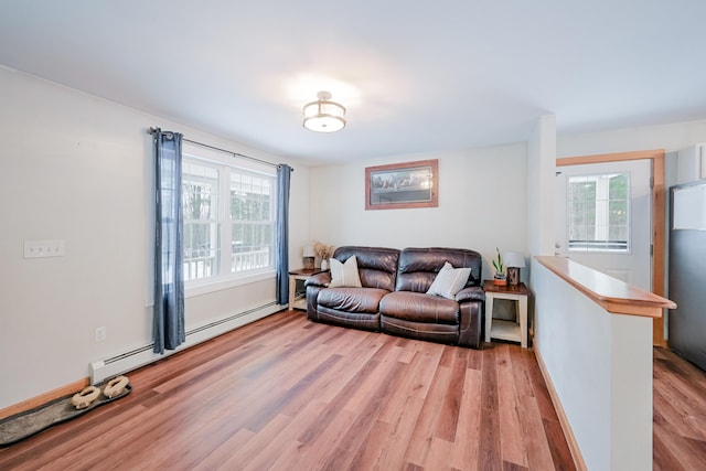
[[[629,194],[628,173],[569,176],[569,250],[629,251]]]

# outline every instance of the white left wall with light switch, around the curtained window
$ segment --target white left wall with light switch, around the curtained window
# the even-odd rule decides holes
[[[0,408],[151,342],[150,126],[270,162],[236,142],[0,67]],[[292,163],[292,162],[289,162]],[[291,245],[309,239],[309,170],[293,164]],[[22,258],[63,239],[62,258]],[[300,264],[297,253],[292,266]],[[186,329],[275,299],[274,279],[190,298]],[[94,342],[104,325],[107,340]]]

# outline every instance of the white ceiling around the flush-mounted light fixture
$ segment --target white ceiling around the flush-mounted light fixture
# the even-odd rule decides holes
[[[706,119],[705,25],[704,0],[2,0],[0,64],[317,163]],[[302,127],[320,89],[343,131]]]

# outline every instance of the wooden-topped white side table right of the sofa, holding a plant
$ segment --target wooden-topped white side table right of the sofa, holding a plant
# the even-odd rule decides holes
[[[485,342],[491,339],[520,342],[527,347],[527,298],[530,289],[525,283],[498,286],[492,280],[483,281],[485,291]],[[493,303],[495,299],[515,301],[516,322],[493,319]]]

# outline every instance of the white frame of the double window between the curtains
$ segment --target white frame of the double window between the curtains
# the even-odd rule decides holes
[[[218,291],[233,288],[236,286],[247,285],[255,281],[272,279],[276,277],[276,269],[272,253],[272,265],[267,268],[257,268],[246,271],[231,271],[232,266],[232,220],[231,220],[231,172],[244,172],[256,176],[271,179],[270,195],[270,217],[272,228],[276,225],[277,201],[276,185],[277,171],[276,168],[238,158],[233,153],[220,151],[210,147],[199,146],[191,142],[183,142],[182,146],[183,161],[192,161],[196,163],[205,163],[218,167],[218,223],[220,223],[220,244],[221,259],[220,272],[216,276],[185,280],[184,291],[186,297],[199,296],[207,292]],[[272,231],[274,234],[274,231]],[[274,240],[272,240],[274,242]],[[274,250],[272,250],[274,251]]]

